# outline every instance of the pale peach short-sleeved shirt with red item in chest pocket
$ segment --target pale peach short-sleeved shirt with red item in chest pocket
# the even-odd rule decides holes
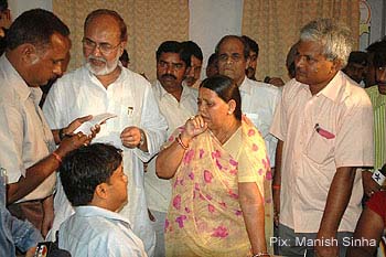
[[[319,231],[336,169],[373,164],[372,111],[367,94],[342,72],[314,96],[308,85],[287,83],[271,127],[283,141],[280,223],[296,233]],[[354,231],[362,195],[357,172],[339,232]]]

